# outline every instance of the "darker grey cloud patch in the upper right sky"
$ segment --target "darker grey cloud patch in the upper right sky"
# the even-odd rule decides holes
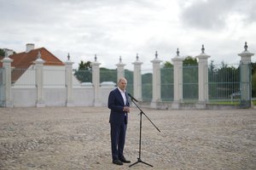
[[[181,20],[187,27],[204,30],[222,30],[229,23],[232,14],[244,15],[245,20],[255,21],[255,2],[253,0],[198,0],[192,3],[180,3],[183,11]]]

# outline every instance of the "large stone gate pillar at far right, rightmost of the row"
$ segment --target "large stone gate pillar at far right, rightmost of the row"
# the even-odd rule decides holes
[[[248,108],[251,106],[251,98],[252,98],[252,85],[251,85],[251,59],[254,54],[250,53],[247,50],[247,42],[245,42],[244,51],[241,54],[241,77],[240,77],[240,90],[241,90],[241,107]]]

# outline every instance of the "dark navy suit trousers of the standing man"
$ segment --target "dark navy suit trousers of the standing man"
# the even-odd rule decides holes
[[[112,159],[117,160],[123,156],[127,124],[110,123],[110,127]]]

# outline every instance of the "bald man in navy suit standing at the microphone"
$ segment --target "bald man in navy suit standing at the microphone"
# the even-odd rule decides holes
[[[120,78],[118,88],[113,89],[108,95],[108,108],[111,110],[109,122],[112,160],[117,165],[131,162],[127,161],[123,155],[128,112],[130,111],[130,104],[125,92],[126,85],[127,80],[124,77]]]

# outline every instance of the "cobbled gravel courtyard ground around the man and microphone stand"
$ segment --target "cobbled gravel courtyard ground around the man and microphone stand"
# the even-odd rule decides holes
[[[256,110],[144,112],[143,163],[112,163],[105,107],[0,108],[1,170],[256,169]],[[131,108],[125,157],[137,161],[139,111]]]

